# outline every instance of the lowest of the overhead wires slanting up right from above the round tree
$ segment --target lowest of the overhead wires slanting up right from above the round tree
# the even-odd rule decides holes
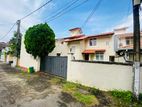
[[[81,3],[79,3],[78,5],[76,5],[76,6],[72,7],[72,8],[69,8],[69,10],[66,9],[65,11],[62,11],[61,13],[56,14],[56,16],[54,16],[54,17],[52,17],[52,18],[49,18],[49,19],[47,20],[47,22],[53,21],[53,20],[57,19],[58,17],[63,16],[64,14],[66,14],[66,13],[68,13],[68,12],[70,12],[70,11],[72,11],[72,10],[74,10],[74,9],[76,9],[76,8],[78,8],[78,7],[80,7],[80,6],[82,6],[84,3],[88,2],[88,1],[89,1],[89,0],[85,0],[85,1],[83,1],[83,2],[81,2]]]

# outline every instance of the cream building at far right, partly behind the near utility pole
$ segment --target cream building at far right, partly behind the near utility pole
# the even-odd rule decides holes
[[[122,30],[123,29],[123,30]],[[122,28],[117,31],[119,33],[115,33],[115,36],[117,37],[117,48],[116,48],[116,56],[122,55],[122,57],[118,57],[118,62],[126,62],[127,61],[133,61],[133,33],[126,33],[127,28]],[[141,47],[142,47],[142,32],[141,35]],[[126,60],[124,60],[124,56],[126,55]],[[121,59],[121,60],[120,60]],[[142,60],[142,55],[141,55]]]

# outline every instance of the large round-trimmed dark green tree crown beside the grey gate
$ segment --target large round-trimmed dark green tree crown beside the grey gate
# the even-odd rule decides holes
[[[44,57],[55,48],[55,34],[47,23],[38,24],[26,31],[24,43],[34,58]]]

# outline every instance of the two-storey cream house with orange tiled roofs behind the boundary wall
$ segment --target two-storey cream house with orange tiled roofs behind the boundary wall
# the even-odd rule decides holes
[[[115,51],[113,32],[85,36],[79,28],[74,28],[70,31],[71,34],[76,35],[64,38],[64,41],[67,42],[69,52],[73,54],[74,59],[89,61],[114,61]]]

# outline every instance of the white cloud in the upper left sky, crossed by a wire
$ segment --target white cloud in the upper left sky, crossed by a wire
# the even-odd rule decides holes
[[[18,19],[27,15],[29,12],[37,9],[39,6],[44,4],[46,0],[3,0],[0,3],[0,38],[3,37],[10,27],[12,23],[15,23]],[[51,9],[53,3],[49,5],[48,9]],[[21,31],[24,32],[29,26],[32,26],[37,23],[41,23],[41,16],[44,13],[46,8],[41,9],[35,14],[29,16],[27,19],[21,22]],[[11,31],[11,33],[0,41],[7,42],[13,34],[13,31],[16,30],[16,27]]]

